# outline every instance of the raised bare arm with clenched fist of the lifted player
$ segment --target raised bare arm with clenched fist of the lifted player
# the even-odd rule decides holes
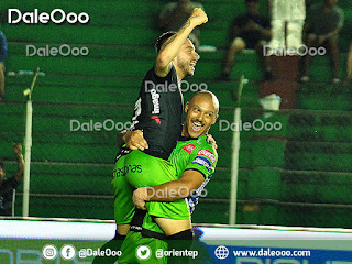
[[[158,52],[154,67],[157,76],[165,77],[169,73],[172,62],[179,53],[188,35],[196,26],[207,23],[207,21],[208,16],[205,11],[199,8],[194,9],[184,26],[169,37]]]

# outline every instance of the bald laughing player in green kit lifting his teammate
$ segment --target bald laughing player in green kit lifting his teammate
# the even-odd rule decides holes
[[[174,201],[185,197],[189,197],[188,202],[191,211],[194,210],[199,194],[215,172],[218,160],[216,148],[207,140],[208,131],[216,122],[218,111],[219,101],[209,91],[196,94],[187,103],[187,117],[182,138],[169,157],[170,163],[176,166],[177,179],[153,187],[142,187],[134,191],[133,201],[136,207],[141,209],[153,208],[153,211],[146,213],[142,221],[132,222],[133,229],[122,244],[122,256],[119,258],[119,263],[187,263],[190,258],[186,255],[186,257],[174,256],[167,260],[165,256],[157,255],[157,251],[170,250],[170,245],[185,253],[185,250],[189,250],[189,245],[179,246],[175,241],[170,243],[169,239],[173,238],[165,237],[156,224],[155,217],[174,218],[174,209],[177,207],[173,206]],[[147,206],[145,202],[154,204],[154,206]],[[185,241],[179,242],[185,243]],[[147,260],[140,260],[136,256],[139,245],[147,245],[151,249],[151,255]]]

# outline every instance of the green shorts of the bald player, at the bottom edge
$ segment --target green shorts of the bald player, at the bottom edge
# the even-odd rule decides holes
[[[166,250],[167,243],[165,241],[144,238],[141,232],[130,231],[122,243],[119,264],[166,264],[167,257],[162,253]]]

